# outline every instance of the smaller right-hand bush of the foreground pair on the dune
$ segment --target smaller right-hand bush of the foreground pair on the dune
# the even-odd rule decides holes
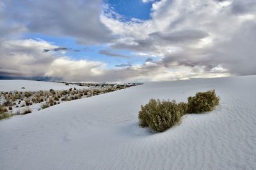
[[[188,97],[187,113],[203,113],[212,111],[214,106],[220,103],[220,97],[216,96],[215,90],[198,92],[193,97]]]

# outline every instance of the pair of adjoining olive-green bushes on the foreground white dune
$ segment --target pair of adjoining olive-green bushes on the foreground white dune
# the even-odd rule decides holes
[[[148,104],[141,105],[139,123],[141,127],[163,132],[180,122],[182,115],[212,111],[219,103],[220,97],[216,96],[215,90],[198,92],[195,96],[188,97],[188,103],[150,99]]]

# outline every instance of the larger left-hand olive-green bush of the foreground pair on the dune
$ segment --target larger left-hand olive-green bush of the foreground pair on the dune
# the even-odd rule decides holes
[[[150,99],[148,104],[141,106],[139,120],[141,127],[150,127],[156,132],[163,132],[180,121],[182,113],[175,101]]]

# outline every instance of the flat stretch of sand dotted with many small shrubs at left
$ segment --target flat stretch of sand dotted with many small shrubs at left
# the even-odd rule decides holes
[[[76,99],[81,99],[84,97],[92,97],[99,94],[104,94],[107,92],[113,92],[115,90],[124,89],[127,87],[132,87],[135,85],[140,85],[140,83],[134,83],[129,85],[117,85],[108,83],[67,83],[67,85],[79,85],[86,86],[86,89],[76,89],[70,88],[68,90],[40,90],[36,92],[0,92],[1,110],[2,113],[7,113],[8,115],[20,115],[27,114],[30,110],[24,111],[25,106],[31,106],[38,104],[38,108],[34,110],[42,110],[48,108],[49,106],[54,106],[65,101],[71,101]],[[25,89],[25,88],[22,88]],[[34,107],[33,107],[34,108]],[[24,112],[24,113],[23,113]],[[7,115],[2,115],[1,117],[6,117]]]

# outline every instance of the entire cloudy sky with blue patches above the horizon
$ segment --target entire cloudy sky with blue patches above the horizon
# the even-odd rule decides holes
[[[0,78],[256,74],[255,0],[0,0]]]

